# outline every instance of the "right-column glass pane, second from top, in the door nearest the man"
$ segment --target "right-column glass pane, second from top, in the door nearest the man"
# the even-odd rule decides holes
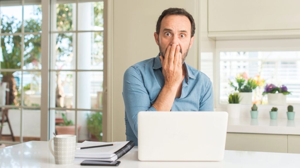
[[[103,32],[78,33],[78,69],[103,70]]]

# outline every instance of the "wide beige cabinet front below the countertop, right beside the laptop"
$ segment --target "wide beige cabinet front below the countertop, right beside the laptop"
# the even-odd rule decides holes
[[[225,149],[287,153],[287,135],[227,133]]]

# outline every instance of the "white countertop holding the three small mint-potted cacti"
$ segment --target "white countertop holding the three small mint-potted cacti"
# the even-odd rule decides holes
[[[227,132],[300,135],[300,119],[228,118]]]

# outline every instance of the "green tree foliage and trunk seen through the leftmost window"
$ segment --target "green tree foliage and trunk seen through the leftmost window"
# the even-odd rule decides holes
[[[41,15],[41,6],[33,5],[36,15]],[[8,17],[1,13],[1,33],[21,32],[21,21],[14,17]],[[25,32],[38,32],[41,30],[40,19],[24,20]],[[34,69],[39,67],[41,62],[41,36],[25,35],[24,44],[21,43],[22,36],[1,36],[2,61],[1,69],[21,68],[21,45],[24,47],[24,66],[30,65]],[[0,58],[1,60],[1,58]],[[24,67],[25,68],[25,67]],[[1,72],[1,82],[7,82],[9,85],[9,101],[7,105],[20,105],[20,79],[15,72]],[[18,99],[17,99],[18,98]]]

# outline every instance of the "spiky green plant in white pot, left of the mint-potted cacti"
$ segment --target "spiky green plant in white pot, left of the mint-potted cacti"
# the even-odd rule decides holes
[[[240,102],[240,96],[238,93],[232,93],[229,94],[228,96],[228,103],[227,104],[227,112],[228,116],[230,118],[239,118],[240,117],[240,109],[241,109],[241,104]]]

